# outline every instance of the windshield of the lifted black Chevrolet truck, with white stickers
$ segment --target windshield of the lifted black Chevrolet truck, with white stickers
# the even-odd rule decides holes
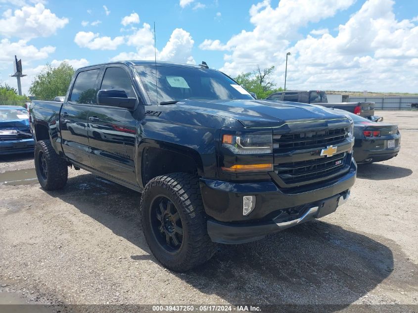
[[[154,105],[183,99],[254,99],[240,85],[218,71],[194,67],[157,66],[155,73],[153,65],[137,65],[136,68]],[[155,77],[158,78],[157,84]]]

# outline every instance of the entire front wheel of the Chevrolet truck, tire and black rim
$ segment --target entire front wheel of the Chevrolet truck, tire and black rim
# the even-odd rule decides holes
[[[140,209],[146,242],[164,267],[186,271],[215,254],[195,175],[174,173],[151,179],[142,193]]]

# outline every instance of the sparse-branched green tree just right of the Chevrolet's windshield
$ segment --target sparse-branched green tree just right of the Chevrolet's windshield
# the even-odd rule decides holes
[[[241,73],[234,80],[249,92],[254,92],[258,99],[265,99],[268,95],[283,90],[281,87],[276,88],[272,80],[274,69],[275,67],[271,66],[261,70],[260,66],[257,66],[255,71]]]

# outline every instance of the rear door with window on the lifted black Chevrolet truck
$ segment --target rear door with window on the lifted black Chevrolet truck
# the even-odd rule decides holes
[[[64,154],[71,160],[90,166],[87,118],[96,101],[96,81],[100,68],[77,74],[68,100],[60,112],[61,143]]]

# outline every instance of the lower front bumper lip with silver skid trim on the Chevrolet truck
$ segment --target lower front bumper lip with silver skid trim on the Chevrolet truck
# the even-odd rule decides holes
[[[207,222],[209,236],[213,242],[224,244],[240,244],[262,239],[267,234],[302,224],[313,219],[322,218],[334,212],[343,205],[350,196],[350,191],[337,194],[333,197],[306,204],[300,209],[298,217],[294,219],[289,215],[280,214],[269,222],[253,224],[229,224],[213,220]]]

